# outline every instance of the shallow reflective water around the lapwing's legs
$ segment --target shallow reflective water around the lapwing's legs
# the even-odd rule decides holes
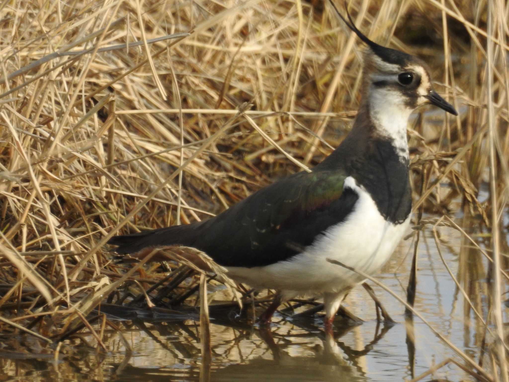
[[[436,217],[428,216],[427,219]],[[459,258],[460,253],[468,258],[465,252],[468,249],[461,248],[461,234],[448,227],[439,227],[438,232],[442,242],[449,244],[449,247],[441,245],[448,266],[463,280],[464,276],[459,273]],[[377,275],[377,280],[400,296],[405,296],[414,240],[415,235],[403,241]],[[472,253],[475,255],[470,255],[470,264],[480,269],[480,273],[478,280],[472,280],[468,285],[482,287],[486,261],[476,251]],[[422,231],[418,254],[416,310],[477,361],[483,328],[474,319],[465,322],[464,298],[440,260],[430,226]],[[394,381],[411,379],[433,364],[455,357],[454,352],[418,318],[414,319],[414,341],[408,341],[407,328],[411,333],[411,326],[405,323],[404,308],[388,293],[370,284],[397,321],[394,325],[377,323],[371,298],[362,287],[357,287],[348,296],[346,305],[364,322],[345,325],[338,320],[335,338],[325,338],[320,316],[285,320],[276,315],[270,332],[239,322],[219,324],[213,319],[212,362],[208,369],[201,368],[199,322],[117,321],[132,346],[132,354],[126,352],[118,333],[109,331],[104,340],[108,353],[96,351],[94,338],[83,334],[81,338],[91,347],[83,345],[78,338],[66,341],[60,348],[59,360],[55,362],[51,355],[53,348],[20,336],[0,347],[2,379],[207,380],[210,372],[213,381]],[[486,302],[479,301],[479,304],[483,317],[486,317]],[[470,317],[473,317],[472,313]],[[15,352],[2,352],[8,346],[12,350],[7,343],[13,342],[18,346]],[[34,353],[34,349],[38,351]],[[434,378],[473,379],[455,365],[447,365],[424,380]]]

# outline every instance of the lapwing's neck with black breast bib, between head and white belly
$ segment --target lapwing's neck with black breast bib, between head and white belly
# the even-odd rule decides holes
[[[369,99],[361,104],[352,131],[314,171],[352,176],[375,201],[380,214],[395,224],[407,219],[412,197],[408,177],[407,120]]]

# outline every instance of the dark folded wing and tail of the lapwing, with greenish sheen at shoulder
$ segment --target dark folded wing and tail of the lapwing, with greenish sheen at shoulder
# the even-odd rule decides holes
[[[189,225],[112,237],[117,252],[158,245],[195,247],[223,266],[264,266],[284,261],[345,220],[358,195],[343,190],[337,171],[298,173],[281,179],[219,215]]]

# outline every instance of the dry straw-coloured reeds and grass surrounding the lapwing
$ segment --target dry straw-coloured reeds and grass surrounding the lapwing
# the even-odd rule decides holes
[[[417,243],[433,225],[437,247],[440,227],[464,235],[451,277],[466,318],[473,309],[485,323],[492,362],[466,361],[459,349],[451,362],[507,381],[509,3],[359,0],[349,9],[375,41],[428,61],[460,112],[420,111],[409,126],[413,235]],[[99,322],[100,347],[105,325],[117,328],[100,312],[114,304],[123,314],[193,314],[200,286],[226,277],[201,275],[179,254],[119,263],[107,239],[207,219],[312,168],[345,137],[360,100],[363,47],[321,1],[4,1],[0,34],[4,336],[56,343]],[[232,302],[221,309],[249,301],[227,284]]]

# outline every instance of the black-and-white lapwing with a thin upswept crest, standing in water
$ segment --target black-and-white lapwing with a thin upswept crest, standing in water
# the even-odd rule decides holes
[[[312,172],[298,172],[254,192],[208,220],[113,236],[119,254],[141,258],[154,248],[192,247],[227,276],[276,297],[259,318],[298,295],[323,296],[325,331],[345,296],[374,275],[409,227],[412,193],[407,123],[425,104],[457,116],[433,88],[428,65],[367,38],[330,1],[367,45],[357,116],[342,143]],[[346,7],[345,7],[346,8]]]

